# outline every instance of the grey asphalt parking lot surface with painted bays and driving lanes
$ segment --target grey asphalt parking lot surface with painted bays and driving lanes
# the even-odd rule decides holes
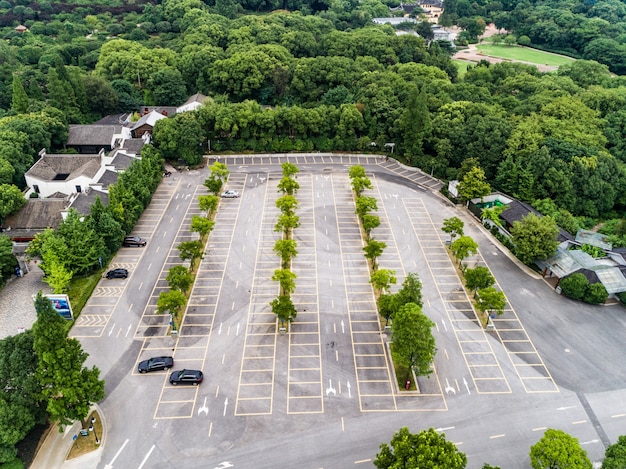
[[[159,187],[136,228],[148,246],[114,260],[131,277],[103,280],[83,311],[72,334],[106,380],[109,432],[98,467],[372,467],[379,444],[402,426],[444,432],[469,468],[528,467],[546,428],[576,436],[601,459],[626,421],[623,316],[572,303],[529,277],[464,209],[431,191],[429,178],[393,161],[294,158],[298,317],[277,333],[269,301],[278,294],[270,278],[280,267],[280,161],[226,160],[227,188],[241,197],[220,203],[177,338],[167,335],[169,318],[155,314],[156,299],[180,264],[176,245],[192,239],[206,170]],[[373,236],[387,244],[380,266],[398,283],[419,274],[424,311],[437,325],[434,372],[418,380],[419,394],[398,391],[379,330],[347,176],[355,163],[374,183],[368,195],[382,223]],[[507,295],[495,332],[477,324],[444,248],[440,227],[450,216],[463,218],[480,245],[468,262],[489,266]],[[165,372],[136,372],[140,359],[166,353],[176,369],[202,369],[205,382],[173,387]]]

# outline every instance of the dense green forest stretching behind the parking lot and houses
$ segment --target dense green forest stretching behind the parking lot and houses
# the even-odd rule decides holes
[[[504,24],[521,5],[525,16]],[[398,158],[442,179],[479,165],[492,187],[560,213],[569,231],[618,218],[626,205],[626,81],[598,62],[557,73],[481,62],[460,78],[449,43],[373,25],[389,15],[379,0],[69,6],[0,2],[4,21],[14,18],[0,29],[0,183],[22,187],[39,149],[61,148],[69,123],[200,92],[212,99],[199,111],[157,124],[166,158],[193,163],[209,146],[383,151],[392,142]],[[547,8],[447,6],[444,23],[483,15],[533,44],[535,15]],[[577,18],[581,39],[569,44],[579,52],[605,40],[580,32],[606,21],[600,2],[559,11]],[[621,28],[618,13],[602,34]]]

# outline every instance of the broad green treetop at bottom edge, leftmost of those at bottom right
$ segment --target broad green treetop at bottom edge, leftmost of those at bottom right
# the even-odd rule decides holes
[[[389,445],[380,445],[374,459],[378,469],[464,469],[466,465],[467,456],[434,428],[417,434],[401,428]]]

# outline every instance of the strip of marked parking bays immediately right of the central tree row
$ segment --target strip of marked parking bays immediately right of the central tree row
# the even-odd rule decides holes
[[[291,261],[291,270],[297,275],[291,299],[298,315],[288,334],[287,413],[290,414],[324,411],[312,178],[311,173],[298,174],[300,190],[296,194],[299,202],[296,213],[300,226],[294,230],[298,255]],[[284,339],[279,337],[278,340]]]

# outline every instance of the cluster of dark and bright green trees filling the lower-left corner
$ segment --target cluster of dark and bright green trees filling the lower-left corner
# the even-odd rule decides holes
[[[15,458],[35,425],[50,421],[63,431],[104,397],[99,370],[84,366],[87,353],[41,292],[35,309],[32,329],[0,340],[0,463]]]

